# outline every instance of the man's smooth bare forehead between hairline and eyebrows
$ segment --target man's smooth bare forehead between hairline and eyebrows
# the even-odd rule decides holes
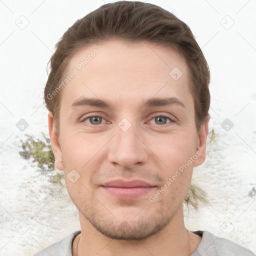
[[[82,95],[123,103],[167,94],[191,101],[186,62],[171,47],[121,40],[92,44],[69,60],[66,75],[71,73],[61,96],[68,104]]]

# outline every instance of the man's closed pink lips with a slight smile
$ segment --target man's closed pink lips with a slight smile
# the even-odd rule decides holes
[[[101,187],[111,196],[128,200],[141,197],[149,193],[156,186],[140,179],[114,179],[102,184]]]

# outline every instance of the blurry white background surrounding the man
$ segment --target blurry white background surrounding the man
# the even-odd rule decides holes
[[[65,188],[49,183],[18,151],[24,134],[36,139],[47,133],[43,89],[55,43],[104,2],[0,0],[0,255],[32,255],[79,229]],[[255,252],[256,197],[248,192],[256,187],[256,1],[147,2],[189,25],[211,71],[210,127],[217,136],[208,144],[205,163],[194,169],[211,204],[185,212],[186,226]],[[24,131],[16,127],[21,118],[29,124]],[[229,131],[221,127],[226,118],[234,124]]]

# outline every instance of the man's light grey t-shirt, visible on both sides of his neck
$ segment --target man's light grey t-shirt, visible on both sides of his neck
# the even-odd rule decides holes
[[[33,256],[72,256],[72,242],[80,231],[69,234]],[[197,249],[191,256],[255,256],[250,250],[228,239],[220,238],[208,231],[194,231],[202,237]]]

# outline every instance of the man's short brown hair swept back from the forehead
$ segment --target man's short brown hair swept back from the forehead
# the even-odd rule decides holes
[[[169,11],[139,1],[107,3],[78,19],[56,44],[50,58],[50,73],[44,89],[47,109],[53,114],[59,133],[59,102],[68,61],[80,48],[95,42],[118,38],[130,42],[147,41],[176,49],[186,60],[190,90],[194,99],[197,130],[208,116],[210,94],[209,69],[203,53],[189,27]],[[51,95],[49,97],[49,95]]]

